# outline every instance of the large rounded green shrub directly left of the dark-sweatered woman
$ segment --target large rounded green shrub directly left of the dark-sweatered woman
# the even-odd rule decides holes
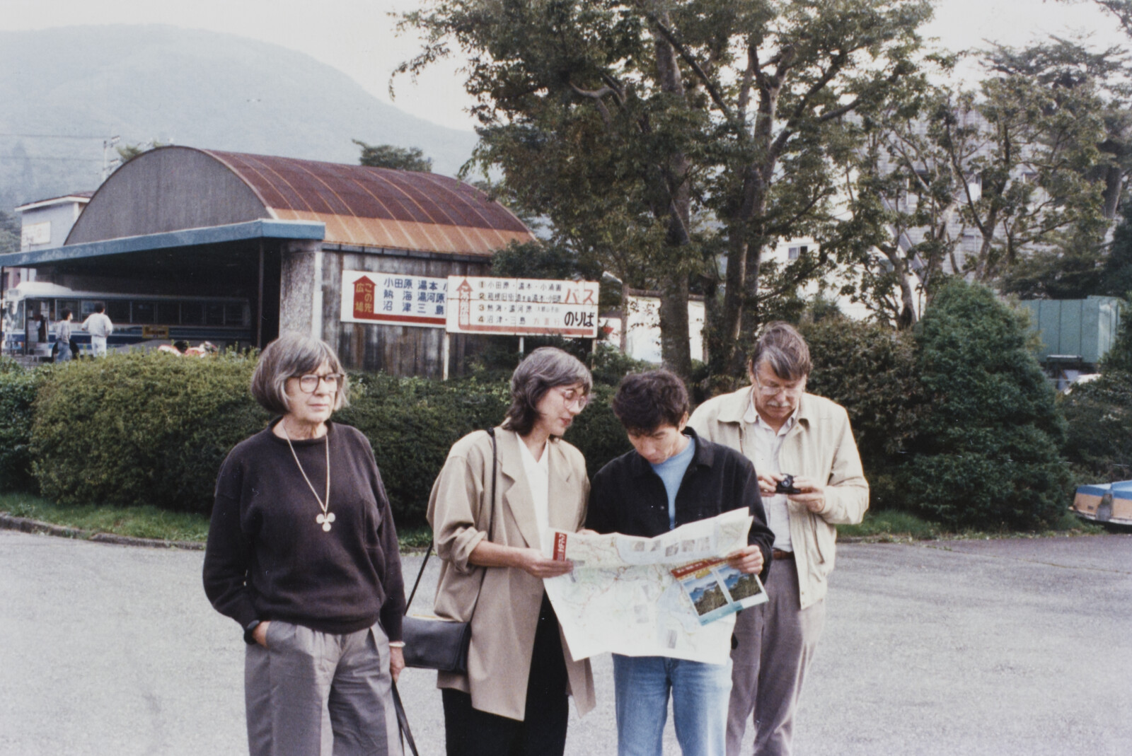
[[[212,508],[228,452],[267,421],[254,360],[154,352],[57,366],[40,389],[32,472],[62,504]]]

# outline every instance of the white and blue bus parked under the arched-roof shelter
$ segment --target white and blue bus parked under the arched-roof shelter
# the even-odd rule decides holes
[[[91,353],[91,335],[79,328],[102,303],[114,324],[106,341],[109,349],[126,349],[142,342],[185,341],[190,344],[211,342],[220,349],[254,344],[251,308],[238,297],[164,297],[156,294],[121,294],[97,291],[75,291],[67,286],[38,281],[20,283],[5,292],[0,300],[3,312],[2,353],[51,354],[57,323],[65,309],[74,312],[71,337],[83,354]],[[40,343],[28,325],[35,313],[49,324],[48,341]]]

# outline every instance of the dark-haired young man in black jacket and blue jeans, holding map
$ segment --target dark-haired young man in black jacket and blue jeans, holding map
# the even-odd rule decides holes
[[[621,380],[614,413],[634,450],[594,475],[586,527],[653,538],[743,508],[753,518],[747,545],[729,553],[727,562],[765,576],[774,535],[766,527],[755,469],[738,452],[697,438],[686,428],[688,409],[683,381],[667,370]],[[726,645],[727,637],[720,643]],[[731,663],[728,650],[719,651],[718,664],[614,654],[619,756],[660,756],[669,691],[684,756],[722,756]]]

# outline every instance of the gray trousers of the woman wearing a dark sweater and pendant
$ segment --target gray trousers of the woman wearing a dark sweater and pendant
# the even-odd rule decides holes
[[[248,646],[251,756],[401,756],[389,643],[379,625],[332,635],[273,621]]]

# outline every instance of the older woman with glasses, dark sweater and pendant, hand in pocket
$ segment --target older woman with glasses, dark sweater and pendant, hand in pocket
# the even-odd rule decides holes
[[[280,416],[232,449],[216,481],[205,593],[248,644],[252,756],[402,753],[397,535],[369,441],[331,422],[348,389],[324,342],[268,344],[251,393]]]

